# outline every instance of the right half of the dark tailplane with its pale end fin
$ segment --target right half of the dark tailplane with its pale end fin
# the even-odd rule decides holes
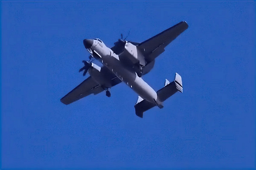
[[[172,95],[174,95],[178,91],[183,92],[183,88],[182,88],[181,76],[178,73],[176,73],[174,81],[170,82],[168,85],[164,86],[163,88],[158,90],[156,93],[157,93],[158,99],[161,102],[164,102],[166,99],[170,98]]]

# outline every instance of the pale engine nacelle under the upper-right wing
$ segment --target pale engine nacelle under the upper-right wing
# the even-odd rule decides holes
[[[126,57],[128,57],[130,61],[132,61],[133,64],[139,62],[140,65],[142,66],[146,65],[145,57],[143,56],[143,54],[140,52],[136,45],[126,42],[124,46],[124,53]]]

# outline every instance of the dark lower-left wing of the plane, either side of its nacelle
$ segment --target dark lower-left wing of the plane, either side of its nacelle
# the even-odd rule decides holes
[[[111,79],[111,85],[115,86],[116,84],[119,84],[122,82],[118,77],[114,77]],[[104,89],[96,83],[92,77],[86,78],[81,84],[79,84],[76,88],[71,90],[66,96],[60,99],[60,101],[63,104],[71,104],[81,98],[84,98],[90,94],[98,94],[100,92],[104,91]]]

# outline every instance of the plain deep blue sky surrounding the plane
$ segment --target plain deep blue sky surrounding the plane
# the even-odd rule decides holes
[[[65,106],[82,40],[187,21],[144,80],[183,94],[137,117],[125,84]],[[1,2],[2,168],[255,168],[255,2]]]

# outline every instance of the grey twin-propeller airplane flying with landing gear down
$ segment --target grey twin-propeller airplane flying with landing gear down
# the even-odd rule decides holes
[[[84,66],[79,72],[84,70],[83,76],[86,72],[89,72],[90,76],[60,101],[68,105],[90,94],[96,95],[103,91],[110,97],[110,88],[124,82],[138,94],[134,106],[138,117],[142,118],[143,113],[154,106],[162,109],[167,98],[178,91],[183,92],[181,76],[176,73],[173,82],[166,79],[164,87],[157,92],[142,79],[142,76],[152,70],[156,57],[187,28],[186,21],[181,21],[142,43],[126,41],[127,37],[123,39],[121,34],[121,39],[118,39],[112,48],[108,48],[98,38],[84,39],[84,47],[90,53],[90,60],[82,61]],[[93,63],[95,59],[103,66]]]

